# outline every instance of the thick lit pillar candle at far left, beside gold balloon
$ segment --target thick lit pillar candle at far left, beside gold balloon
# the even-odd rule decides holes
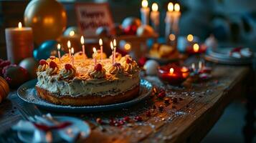
[[[31,27],[18,27],[5,29],[6,51],[11,64],[19,64],[22,59],[33,56],[33,34]]]

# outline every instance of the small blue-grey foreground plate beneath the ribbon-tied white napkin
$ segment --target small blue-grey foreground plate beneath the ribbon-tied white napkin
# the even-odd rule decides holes
[[[81,131],[82,138],[85,139],[90,135],[90,126],[85,121],[81,119],[77,119],[75,117],[54,117],[57,121],[60,122],[72,122],[70,127],[77,128]],[[67,127],[67,128],[70,128]],[[22,142],[30,143],[33,142],[33,134],[29,134],[26,132],[18,132],[18,137]]]

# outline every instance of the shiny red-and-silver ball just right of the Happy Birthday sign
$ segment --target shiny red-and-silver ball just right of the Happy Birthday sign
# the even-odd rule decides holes
[[[125,34],[135,35],[141,20],[135,17],[127,17],[123,20],[122,27]]]

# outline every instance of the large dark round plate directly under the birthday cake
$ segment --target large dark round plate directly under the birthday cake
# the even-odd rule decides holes
[[[39,108],[52,110],[54,112],[102,112],[107,110],[122,109],[125,107],[130,107],[132,104],[141,102],[141,100],[148,97],[151,93],[152,84],[145,79],[141,79],[141,87],[139,96],[135,99],[132,99],[128,102],[122,102],[117,104],[108,104],[108,105],[98,105],[98,106],[82,106],[82,107],[73,107],[67,105],[57,105],[49,103],[43,99],[40,99],[37,96],[37,91],[34,89],[34,86],[37,84],[37,79],[31,80],[22,84],[18,89],[18,96],[24,102],[36,104]]]

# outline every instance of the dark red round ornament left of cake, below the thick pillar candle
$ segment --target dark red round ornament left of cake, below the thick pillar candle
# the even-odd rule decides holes
[[[3,69],[4,79],[11,88],[16,88],[29,79],[29,73],[21,66],[10,65]]]

